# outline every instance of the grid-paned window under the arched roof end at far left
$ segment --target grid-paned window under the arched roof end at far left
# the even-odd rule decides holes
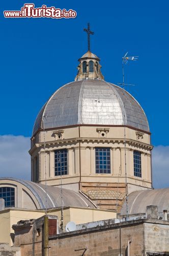
[[[0,198],[4,198],[5,207],[15,206],[15,188],[0,187]]]

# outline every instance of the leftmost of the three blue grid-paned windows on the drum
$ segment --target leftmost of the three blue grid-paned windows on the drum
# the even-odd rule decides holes
[[[68,174],[67,149],[54,151],[54,173],[55,176]]]

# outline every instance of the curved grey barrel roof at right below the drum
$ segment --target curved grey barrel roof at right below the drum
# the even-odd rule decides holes
[[[158,212],[169,210],[169,188],[134,191],[128,196],[128,214],[145,213],[148,205],[157,205]],[[126,215],[126,202],[121,215]]]

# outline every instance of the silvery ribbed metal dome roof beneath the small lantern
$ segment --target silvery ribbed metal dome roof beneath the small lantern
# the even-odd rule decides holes
[[[123,105],[125,103],[125,109]],[[122,88],[104,80],[80,80],[65,84],[39,112],[33,135],[42,129],[76,124],[125,125],[149,132],[147,117],[139,103]]]

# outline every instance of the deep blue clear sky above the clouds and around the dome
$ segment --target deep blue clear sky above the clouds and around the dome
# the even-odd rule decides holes
[[[75,19],[12,18],[24,1],[1,3],[0,135],[30,137],[44,102],[74,80],[77,59],[87,51],[83,28],[95,32],[91,50],[101,58],[105,80],[122,81],[122,56],[138,55],[125,67],[127,90],[145,110],[152,144],[168,143],[168,1],[34,1],[35,7],[74,9]],[[158,155],[158,154],[157,154]]]

